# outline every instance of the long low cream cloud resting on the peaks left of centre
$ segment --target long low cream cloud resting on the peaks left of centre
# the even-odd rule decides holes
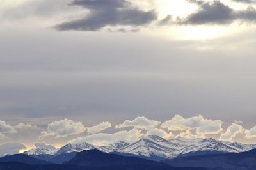
[[[94,145],[104,146],[111,143],[117,143],[119,141],[125,141],[127,143],[133,143],[140,140],[144,134],[141,133],[141,130],[132,129],[129,131],[119,131],[115,134],[93,134],[85,137],[79,137],[70,141],[70,143],[81,143],[86,142]]]

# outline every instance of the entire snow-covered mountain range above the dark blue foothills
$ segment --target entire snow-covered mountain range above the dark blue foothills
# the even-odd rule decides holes
[[[164,158],[185,157],[191,155],[204,155],[211,153],[239,153],[256,148],[256,144],[241,144],[215,139],[186,139],[177,137],[166,140],[157,135],[144,137],[135,143],[129,144],[124,141],[109,144],[108,146],[93,146],[88,143],[66,144],[58,150],[49,148],[34,148],[26,151],[27,155],[61,155],[63,153],[80,152],[83,150],[97,149],[105,153],[132,154],[138,157],[152,160]]]

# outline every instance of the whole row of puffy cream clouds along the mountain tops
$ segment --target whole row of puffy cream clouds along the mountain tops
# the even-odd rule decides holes
[[[256,127],[246,129],[242,124],[243,121],[235,120],[230,126],[223,128],[227,123],[221,120],[207,119],[202,115],[184,118],[177,114],[170,120],[163,121],[163,123],[140,116],[134,118],[134,120],[125,120],[123,123],[116,125],[115,128],[111,128],[112,125],[108,121],[92,127],[85,127],[81,122],[66,118],[60,121],[53,121],[47,125],[47,130],[41,132],[40,139],[67,138],[67,142],[69,141],[70,143],[86,142],[99,146],[118,143],[119,141],[134,143],[141,139],[141,137],[149,135],[158,135],[164,139],[172,139],[178,136],[186,138],[215,136],[215,138],[223,141],[234,141],[237,135],[243,137],[243,139],[256,139]],[[13,133],[13,127],[5,121],[2,121],[2,127],[5,127],[2,128],[3,132],[0,132],[0,140],[3,141],[8,138],[5,133]],[[23,128],[28,130],[29,128],[30,130],[38,130],[38,127],[34,128],[33,125],[26,123],[19,123],[15,127],[17,129]],[[112,133],[102,133],[102,131],[108,128],[111,128],[109,132]],[[120,130],[123,128],[125,130]],[[15,131],[15,133],[19,133],[19,131]],[[76,138],[70,140],[72,135]],[[34,145],[36,147],[54,148],[54,146],[45,143],[35,143]],[[11,146],[13,145],[10,144]],[[20,144],[14,146],[19,147],[14,148],[12,152],[23,149],[23,146],[20,146]]]

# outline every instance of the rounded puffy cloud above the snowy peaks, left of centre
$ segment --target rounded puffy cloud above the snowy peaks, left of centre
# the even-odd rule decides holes
[[[86,130],[86,127],[81,122],[73,120],[54,121],[48,125],[47,131],[41,132],[40,138],[53,136],[56,138],[67,137],[68,135],[81,134]]]

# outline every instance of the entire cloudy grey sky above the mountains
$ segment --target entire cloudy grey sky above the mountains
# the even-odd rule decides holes
[[[150,134],[256,143],[256,1],[0,4],[0,154]]]

